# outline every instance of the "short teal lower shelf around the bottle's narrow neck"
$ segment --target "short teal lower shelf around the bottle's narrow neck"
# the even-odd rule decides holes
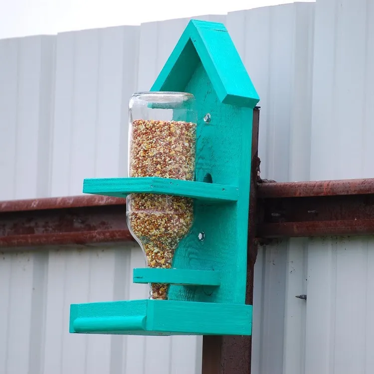
[[[185,286],[219,286],[221,275],[213,270],[134,269],[134,283],[167,283]]]

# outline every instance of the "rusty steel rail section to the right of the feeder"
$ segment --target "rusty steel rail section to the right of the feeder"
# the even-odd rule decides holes
[[[257,190],[259,238],[374,233],[374,179],[266,183]]]

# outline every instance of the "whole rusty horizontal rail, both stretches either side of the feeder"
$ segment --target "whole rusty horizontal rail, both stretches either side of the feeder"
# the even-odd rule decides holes
[[[256,200],[259,239],[374,233],[374,179],[259,183]],[[0,247],[133,241],[125,212],[110,196],[0,201]]]

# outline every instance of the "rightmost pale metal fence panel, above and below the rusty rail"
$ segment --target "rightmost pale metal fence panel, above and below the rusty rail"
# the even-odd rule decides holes
[[[374,176],[374,3],[317,2],[311,179]],[[308,247],[305,374],[374,372],[373,236]]]

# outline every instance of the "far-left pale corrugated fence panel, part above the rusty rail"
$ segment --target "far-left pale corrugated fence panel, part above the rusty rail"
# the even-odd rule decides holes
[[[0,40],[0,198],[48,195],[54,36]]]

